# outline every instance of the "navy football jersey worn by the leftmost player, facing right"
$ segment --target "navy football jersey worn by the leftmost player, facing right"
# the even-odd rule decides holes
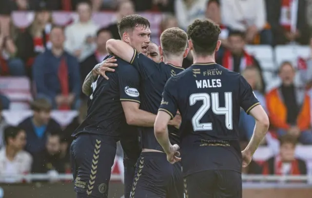
[[[128,62],[117,58],[117,64],[115,72],[107,72],[109,80],[99,76],[92,83],[93,93],[88,100],[87,117],[72,136],[91,133],[120,137],[122,131],[129,128],[120,101],[140,103],[140,76]]]

